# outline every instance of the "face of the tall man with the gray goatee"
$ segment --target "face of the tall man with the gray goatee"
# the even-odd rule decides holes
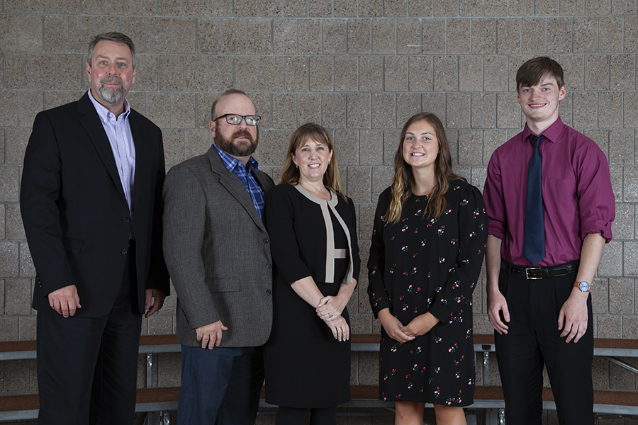
[[[135,83],[135,68],[128,45],[123,42],[99,41],[91,63],[86,64],[91,94],[109,111],[119,115],[124,111],[124,96]]]

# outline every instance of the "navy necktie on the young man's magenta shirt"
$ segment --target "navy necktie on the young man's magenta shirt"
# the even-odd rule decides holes
[[[525,195],[525,242],[523,256],[532,265],[545,256],[545,226],[543,220],[542,158],[538,145],[543,135],[530,135],[534,153],[527,167],[527,193]]]

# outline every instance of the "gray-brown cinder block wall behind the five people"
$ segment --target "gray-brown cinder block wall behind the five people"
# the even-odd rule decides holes
[[[262,115],[257,158],[275,178],[298,125],[329,128],[358,208],[364,263],[406,118],[437,113],[456,171],[482,188],[491,153],[524,123],[517,67],[554,57],[566,71],[561,117],[603,149],[616,198],[591,326],[598,337],[637,336],[636,0],[3,0],[0,8],[0,340],[35,339],[35,270],[18,205],[33,118],[88,89],[89,38],[108,30],[138,47],[128,98],[162,128],[168,166],[210,147],[211,103],[230,87],[247,91]],[[362,277],[349,305],[359,334],[379,331],[366,285]],[[172,333],[174,307],[172,296],[142,333]],[[491,331],[483,281],[474,319],[476,333]],[[179,355],[155,360],[155,385],[179,385]],[[376,354],[353,354],[352,382],[376,383],[376,368]],[[597,387],[636,387],[607,361],[594,369]],[[140,385],[144,377],[145,369]],[[34,361],[0,364],[2,392],[36,390],[36,379]]]

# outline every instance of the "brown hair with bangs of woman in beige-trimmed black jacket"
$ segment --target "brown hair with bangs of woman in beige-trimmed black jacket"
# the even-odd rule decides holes
[[[332,145],[332,137],[330,137],[328,130],[315,123],[306,123],[293,132],[286,150],[286,161],[284,162],[284,170],[281,171],[281,176],[279,177],[279,183],[286,183],[292,186],[299,183],[299,169],[295,166],[292,158],[297,148],[306,144],[310,139],[328,146],[328,149],[332,152],[328,169],[323,174],[323,185],[345,198],[345,193],[343,193],[341,187],[341,179],[339,178],[337,152],[335,152],[335,147]]]

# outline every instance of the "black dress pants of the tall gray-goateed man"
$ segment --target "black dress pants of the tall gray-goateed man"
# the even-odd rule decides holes
[[[136,291],[135,254],[129,254],[106,316],[38,312],[38,425],[133,423],[142,322]]]

